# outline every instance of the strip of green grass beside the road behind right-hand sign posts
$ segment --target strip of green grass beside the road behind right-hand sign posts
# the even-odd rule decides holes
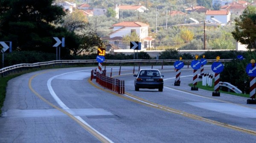
[[[212,85],[214,85],[214,80],[212,80]],[[194,87],[194,85],[193,84],[189,84],[189,86],[190,87]],[[197,82],[197,86],[196,87],[198,87],[198,88],[200,88],[200,89],[203,89],[203,90],[208,90],[208,91],[214,91],[214,86],[212,86],[212,87],[210,87],[210,86],[203,86],[202,85],[202,81],[198,81]],[[222,91],[222,90],[219,90],[219,92],[220,93],[227,93],[227,94],[231,94],[231,95],[236,95],[236,96],[241,96],[241,97],[247,97],[247,98],[249,98],[250,97],[250,95],[249,94],[243,94],[243,93],[233,93],[233,92],[226,92],[226,91]]]

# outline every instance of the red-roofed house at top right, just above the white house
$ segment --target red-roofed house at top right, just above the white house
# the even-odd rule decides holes
[[[241,15],[244,9],[247,7],[247,4],[240,4],[237,2],[229,3],[225,6],[221,6],[221,10],[229,10],[231,14]]]

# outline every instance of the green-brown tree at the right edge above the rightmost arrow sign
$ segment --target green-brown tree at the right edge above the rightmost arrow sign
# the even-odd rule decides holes
[[[248,45],[247,48],[256,48],[256,8],[248,6],[243,14],[235,19],[235,30],[232,32],[237,42]]]

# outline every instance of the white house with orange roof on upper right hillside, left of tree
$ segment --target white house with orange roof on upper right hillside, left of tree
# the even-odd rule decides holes
[[[212,11],[208,10],[205,13],[206,20],[215,21],[221,24],[228,24],[230,22],[230,11],[221,10],[221,11]]]

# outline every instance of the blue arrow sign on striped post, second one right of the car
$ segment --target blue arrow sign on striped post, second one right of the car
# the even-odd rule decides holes
[[[201,68],[201,61],[198,60],[198,55],[195,55],[195,60],[191,62],[191,67],[194,69],[193,70],[193,85],[194,87],[191,87],[191,90],[198,90],[198,87],[195,87],[197,85],[197,80],[198,80],[198,69]]]

